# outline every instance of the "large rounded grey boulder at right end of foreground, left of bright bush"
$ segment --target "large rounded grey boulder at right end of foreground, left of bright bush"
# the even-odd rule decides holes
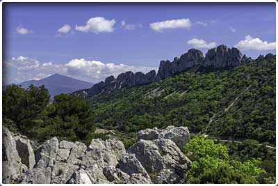
[[[164,176],[163,183],[183,183],[186,180],[184,172],[191,162],[170,139],[140,139],[128,153],[136,156],[153,183],[161,183],[159,176]]]

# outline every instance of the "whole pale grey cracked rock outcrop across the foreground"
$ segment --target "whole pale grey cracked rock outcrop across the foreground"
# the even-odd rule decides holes
[[[184,183],[190,160],[181,151],[187,127],[147,129],[128,150],[118,139],[49,139],[38,147],[3,127],[3,183]]]

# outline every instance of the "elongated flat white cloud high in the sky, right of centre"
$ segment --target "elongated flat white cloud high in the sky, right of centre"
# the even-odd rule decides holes
[[[149,24],[151,29],[158,32],[163,32],[166,29],[189,29],[191,23],[189,19],[179,19],[179,20],[165,20],[163,22],[153,22]]]

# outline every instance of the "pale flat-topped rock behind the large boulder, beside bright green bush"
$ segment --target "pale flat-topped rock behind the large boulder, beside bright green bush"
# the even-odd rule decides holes
[[[190,134],[188,127],[168,126],[165,130],[158,130],[154,127],[153,129],[140,130],[136,134],[136,139],[171,139],[182,150],[183,146],[189,141]]]

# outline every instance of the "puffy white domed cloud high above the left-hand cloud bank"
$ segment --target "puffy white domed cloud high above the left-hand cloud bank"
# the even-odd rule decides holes
[[[84,26],[75,26],[76,31],[101,33],[113,32],[115,20],[106,20],[104,17],[92,17]]]

